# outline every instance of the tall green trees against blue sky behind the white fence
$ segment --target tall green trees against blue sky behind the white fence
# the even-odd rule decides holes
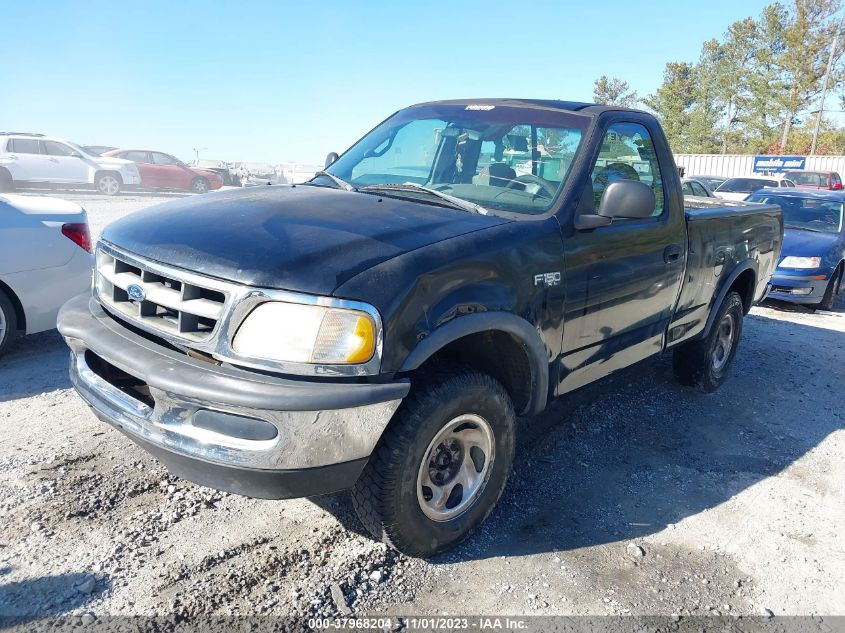
[[[671,61],[646,97],[601,76],[596,103],[644,107],[673,151],[696,154],[809,154],[825,76],[816,154],[845,154],[845,18],[841,0],[775,2],[702,44],[695,62]],[[834,44],[838,44],[834,46]]]

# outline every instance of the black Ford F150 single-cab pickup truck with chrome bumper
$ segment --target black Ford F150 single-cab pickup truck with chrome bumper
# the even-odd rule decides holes
[[[685,208],[646,113],[425,103],[308,183],[111,224],[59,329],[94,413],[174,473],[351,488],[376,538],[429,555],[494,507],[516,416],[667,351],[682,383],[725,380],[783,219],[718,205]]]

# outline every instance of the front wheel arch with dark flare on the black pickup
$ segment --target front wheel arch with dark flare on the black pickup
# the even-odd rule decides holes
[[[414,372],[444,357],[496,378],[519,415],[534,415],[546,406],[548,352],[537,330],[515,314],[482,312],[452,319],[411,350],[399,373]]]

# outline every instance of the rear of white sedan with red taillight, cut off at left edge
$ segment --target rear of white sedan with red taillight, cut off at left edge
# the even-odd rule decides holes
[[[62,304],[91,287],[92,267],[85,209],[0,194],[0,355],[16,336],[56,327]]]

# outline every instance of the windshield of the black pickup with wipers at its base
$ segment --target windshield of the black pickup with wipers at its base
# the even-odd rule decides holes
[[[489,210],[548,211],[590,119],[544,108],[433,105],[402,110],[327,171],[356,189],[444,204],[435,189]],[[383,189],[381,187],[384,187]]]

